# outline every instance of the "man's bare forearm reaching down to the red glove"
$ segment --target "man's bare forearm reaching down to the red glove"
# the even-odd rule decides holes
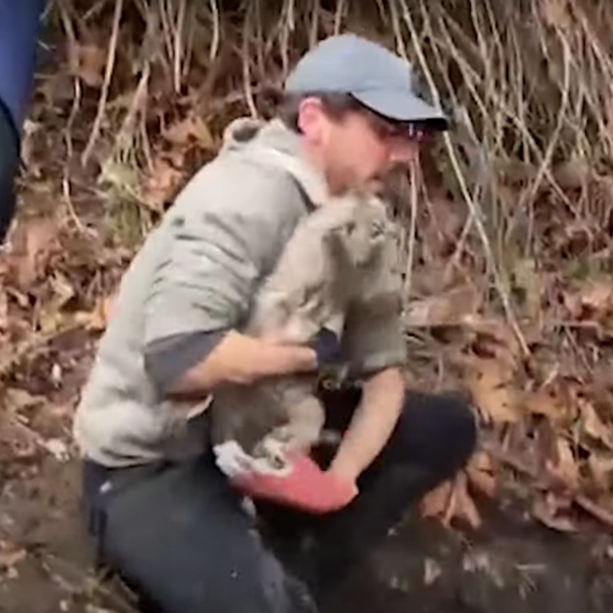
[[[330,473],[343,482],[357,481],[394,431],[404,397],[405,385],[398,368],[387,368],[368,379],[360,405],[332,460]]]

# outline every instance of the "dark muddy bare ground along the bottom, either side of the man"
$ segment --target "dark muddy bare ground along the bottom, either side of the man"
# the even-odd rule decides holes
[[[75,495],[78,467],[48,455],[0,498],[1,613],[125,613],[126,593],[91,572]],[[534,523],[517,503],[481,504],[479,531],[408,518],[340,586],[344,613],[609,613],[613,539],[565,535]]]

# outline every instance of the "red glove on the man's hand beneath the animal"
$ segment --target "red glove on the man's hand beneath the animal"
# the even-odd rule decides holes
[[[307,455],[289,452],[287,461],[290,470],[286,473],[245,471],[235,474],[232,483],[249,497],[314,514],[337,511],[356,497],[356,484],[322,471]]]

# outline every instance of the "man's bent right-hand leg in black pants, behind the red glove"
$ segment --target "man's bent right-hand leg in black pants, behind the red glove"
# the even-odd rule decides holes
[[[344,429],[359,390],[322,395],[327,427]],[[326,596],[425,493],[462,468],[476,435],[473,411],[459,397],[408,391],[392,438],[359,480],[356,500],[324,517],[262,505],[265,535],[289,568]]]

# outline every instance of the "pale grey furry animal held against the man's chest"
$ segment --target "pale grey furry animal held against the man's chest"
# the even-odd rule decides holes
[[[348,306],[383,249],[385,216],[375,197],[350,194],[330,198],[300,221],[242,332],[306,344],[326,326],[340,338]],[[219,389],[211,405],[213,446],[236,441],[251,457],[276,460],[281,447],[308,452],[325,417],[316,381],[316,374],[292,375]]]

